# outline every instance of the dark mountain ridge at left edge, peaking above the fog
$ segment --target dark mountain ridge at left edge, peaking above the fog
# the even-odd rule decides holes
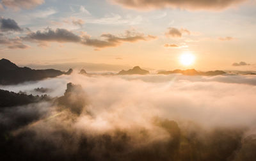
[[[57,77],[62,74],[70,74],[72,69],[68,72],[61,72],[60,70],[33,70],[28,67],[20,68],[8,59],[0,60],[0,84],[19,84],[26,81],[39,81],[48,77]]]

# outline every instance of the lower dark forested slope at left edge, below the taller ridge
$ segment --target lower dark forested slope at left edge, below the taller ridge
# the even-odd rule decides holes
[[[36,103],[40,101],[48,101],[51,100],[49,96],[33,96],[26,95],[26,93],[14,93],[10,91],[5,91],[0,89],[0,107],[12,107],[18,105],[27,105],[31,103]]]

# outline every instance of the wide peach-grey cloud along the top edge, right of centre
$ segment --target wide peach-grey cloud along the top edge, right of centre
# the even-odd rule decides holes
[[[126,8],[153,10],[161,8],[179,8],[184,10],[223,10],[243,3],[246,0],[112,0]]]

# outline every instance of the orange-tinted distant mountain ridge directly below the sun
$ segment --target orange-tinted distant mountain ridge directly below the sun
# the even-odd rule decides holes
[[[214,75],[223,75],[225,72],[221,70],[209,71],[209,72],[198,72],[195,69],[189,70],[173,70],[173,71],[162,71],[157,74],[173,74],[173,73],[182,73],[183,75],[204,75],[204,76],[214,76]]]

